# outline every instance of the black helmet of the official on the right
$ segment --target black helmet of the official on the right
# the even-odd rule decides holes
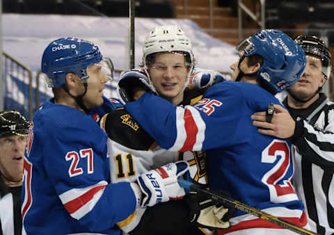
[[[332,56],[324,40],[312,35],[299,35],[294,41],[303,48],[306,55],[321,60],[322,72],[328,79],[331,76]]]

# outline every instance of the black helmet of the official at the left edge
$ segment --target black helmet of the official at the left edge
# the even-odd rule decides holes
[[[30,122],[17,111],[0,112],[0,138],[12,135],[25,136]]]

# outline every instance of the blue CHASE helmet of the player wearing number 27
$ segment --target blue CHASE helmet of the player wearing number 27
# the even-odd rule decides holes
[[[77,38],[59,38],[51,42],[42,56],[42,72],[47,75],[51,88],[61,88],[65,76],[72,72],[81,81],[88,79],[87,67],[102,60],[102,54],[95,44]]]

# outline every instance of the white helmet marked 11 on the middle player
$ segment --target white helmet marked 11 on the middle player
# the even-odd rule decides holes
[[[195,58],[191,47],[191,41],[184,31],[177,25],[156,26],[146,36],[143,44],[143,59],[142,65],[144,70],[148,70],[148,56],[159,52],[184,52],[186,65],[189,66],[189,74],[186,79],[186,86],[189,83],[189,77],[195,66]],[[184,90],[184,89],[183,89]],[[183,92],[182,90],[182,92]]]

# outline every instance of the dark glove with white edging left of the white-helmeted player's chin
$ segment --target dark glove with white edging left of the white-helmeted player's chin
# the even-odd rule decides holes
[[[134,101],[134,88],[143,88],[145,91],[157,95],[155,88],[150,83],[148,74],[143,69],[126,70],[120,74],[117,94],[122,104]]]

